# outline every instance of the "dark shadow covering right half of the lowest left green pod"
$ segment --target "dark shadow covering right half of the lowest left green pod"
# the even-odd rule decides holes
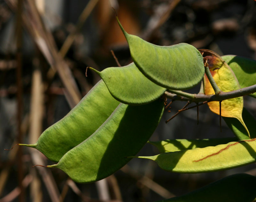
[[[156,100],[147,105],[129,105],[120,121],[116,132],[102,154],[97,180],[105,178],[123,167],[147,143],[161,118],[163,100]],[[108,132],[108,131],[107,131]],[[101,155],[101,154],[100,154]]]

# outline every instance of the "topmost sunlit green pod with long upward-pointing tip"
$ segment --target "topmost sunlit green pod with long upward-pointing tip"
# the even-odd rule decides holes
[[[138,36],[125,32],[116,17],[129,44],[135,65],[152,82],[173,90],[196,86],[204,76],[201,53],[192,45],[180,43],[172,46],[157,46]]]

